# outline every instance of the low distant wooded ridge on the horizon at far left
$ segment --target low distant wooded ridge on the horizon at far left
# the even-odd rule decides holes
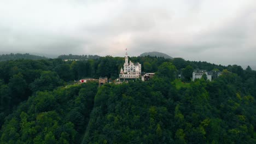
[[[0,61],[10,61],[16,59],[48,59],[42,56],[30,55],[29,53],[21,54],[21,53],[10,53],[10,54],[2,54],[0,55]]]

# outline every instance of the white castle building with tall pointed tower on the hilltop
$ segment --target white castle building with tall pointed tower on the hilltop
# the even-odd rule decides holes
[[[141,76],[141,64],[133,63],[131,61],[129,62],[126,51],[124,69],[122,67],[120,70],[119,80],[122,82],[127,82],[132,79],[139,79],[139,76]]]

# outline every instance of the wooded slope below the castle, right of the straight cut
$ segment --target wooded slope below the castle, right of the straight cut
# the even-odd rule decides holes
[[[224,70],[213,82],[198,80],[188,86],[174,80],[181,85],[174,89],[161,76],[147,83],[101,87],[83,143],[255,141],[255,101],[237,87],[236,74]]]

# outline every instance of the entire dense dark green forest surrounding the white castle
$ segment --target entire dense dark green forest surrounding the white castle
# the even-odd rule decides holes
[[[147,82],[115,79],[121,57],[0,62],[0,143],[256,143],[256,71],[182,58],[131,57]],[[223,71],[191,81],[194,69]],[[176,79],[181,71],[183,79]]]

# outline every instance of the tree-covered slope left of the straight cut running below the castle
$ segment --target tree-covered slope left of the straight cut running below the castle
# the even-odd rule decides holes
[[[97,83],[93,82],[37,92],[6,119],[0,143],[78,143],[96,91]]]

